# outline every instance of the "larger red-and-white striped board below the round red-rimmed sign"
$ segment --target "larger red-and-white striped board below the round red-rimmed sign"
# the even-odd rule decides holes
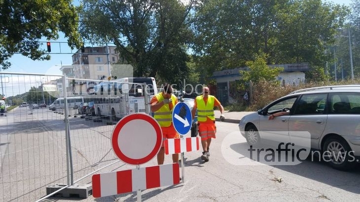
[[[93,197],[106,197],[180,183],[179,164],[94,174]]]

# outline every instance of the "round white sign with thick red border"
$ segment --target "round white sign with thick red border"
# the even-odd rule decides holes
[[[124,163],[141,165],[156,156],[162,144],[159,123],[150,115],[137,113],[123,117],[114,127],[111,146]]]

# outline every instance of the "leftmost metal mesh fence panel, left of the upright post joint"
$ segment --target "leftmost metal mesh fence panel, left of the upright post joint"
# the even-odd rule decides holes
[[[45,195],[48,184],[66,183],[64,117],[43,105],[38,107],[54,99],[53,92],[42,91],[42,84],[55,82],[61,76],[1,76],[5,103],[21,107],[10,106],[0,117],[0,199],[34,201]]]

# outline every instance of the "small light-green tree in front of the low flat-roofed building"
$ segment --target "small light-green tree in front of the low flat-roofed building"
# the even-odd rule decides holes
[[[240,71],[242,79],[245,82],[252,81],[252,83],[257,84],[260,80],[265,80],[268,82],[277,81],[276,77],[280,72],[284,71],[283,67],[274,67],[271,68],[266,63],[267,56],[261,54],[255,58],[254,61],[247,61],[246,65],[249,68],[248,71]]]

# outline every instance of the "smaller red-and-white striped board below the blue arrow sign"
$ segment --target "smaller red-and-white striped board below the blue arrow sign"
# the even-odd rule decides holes
[[[175,138],[164,141],[165,154],[178,154],[187,151],[199,150],[198,137],[193,138]]]

